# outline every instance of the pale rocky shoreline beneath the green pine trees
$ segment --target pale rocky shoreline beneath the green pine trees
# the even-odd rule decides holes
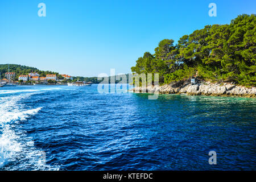
[[[245,86],[234,85],[232,83],[211,83],[199,81],[192,84],[190,80],[171,82],[162,86],[135,87],[131,92],[136,93],[155,93],[159,94],[187,94],[189,96],[237,96],[256,98],[256,88],[246,88]]]

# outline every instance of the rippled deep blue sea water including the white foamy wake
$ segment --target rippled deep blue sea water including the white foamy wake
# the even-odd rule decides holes
[[[4,87],[0,169],[255,170],[255,113],[253,98]]]

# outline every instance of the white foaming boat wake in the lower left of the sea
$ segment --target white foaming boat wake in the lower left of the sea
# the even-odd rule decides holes
[[[0,170],[57,170],[46,164],[46,153],[34,146],[20,121],[36,115],[42,107],[25,109],[19,101],[32,94],[0,98]]]

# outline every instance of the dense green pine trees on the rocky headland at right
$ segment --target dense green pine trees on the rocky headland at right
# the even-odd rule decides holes
[[[256,17],[238,15],[230,24],[207,25],[190,35],[164,39],[155,53],[139,57],[133,73],[159,73],[160,84],[196,77],[212,82],[256,85]]]

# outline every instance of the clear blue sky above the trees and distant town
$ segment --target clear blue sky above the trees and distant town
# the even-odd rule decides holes
[[[38,4],[46,4],[46,17]],[[217,5],[217,17],[208,5]],[[207,24],[255,14],[256,1],[1,1],[0,64],[22,64],[72,76],[129,73],[162,39],[175,42]]]

